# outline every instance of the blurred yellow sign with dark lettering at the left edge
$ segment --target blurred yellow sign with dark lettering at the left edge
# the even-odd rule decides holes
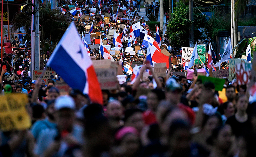
[[[0,96],[0,130],[25,130],[31,126],[26,105],[28,97],[22,93]]]

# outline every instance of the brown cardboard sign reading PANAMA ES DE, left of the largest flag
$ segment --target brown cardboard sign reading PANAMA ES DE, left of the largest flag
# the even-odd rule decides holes
[[[42,80],[44,80],[44,82],[47,83],[48,79],[55,79],[55,75],[55,71],[34,70],[33,80],[42,78]]]

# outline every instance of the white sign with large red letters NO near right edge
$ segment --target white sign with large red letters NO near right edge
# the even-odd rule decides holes
[[[250,82],[251,71],[251,63],[236,64],[236,80],[238,85],[246,85]]]

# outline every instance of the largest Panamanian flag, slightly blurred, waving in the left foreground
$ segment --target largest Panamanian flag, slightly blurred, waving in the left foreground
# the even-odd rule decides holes
[[[71,88],[88,94],[92,102],[103,104],[100,84],[92,61],[74,23],[69,25],[62,36],[47,66],[56,71]]]

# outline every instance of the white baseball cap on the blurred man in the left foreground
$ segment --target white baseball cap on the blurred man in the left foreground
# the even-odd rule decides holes
[[[54,103],[54,108],[56,110],[60,110],[62,108],[70,108],[75,110],[76,105],[74,99],[69,95],[62,95],[59,96]]]

